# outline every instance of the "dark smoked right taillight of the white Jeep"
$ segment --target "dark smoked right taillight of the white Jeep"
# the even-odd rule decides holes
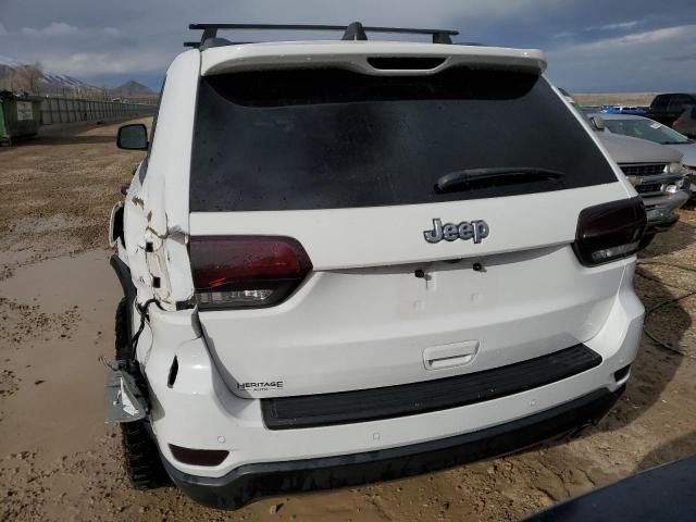
[[[584,209],[577,220],[573,248],[585,266],[633,256],[647,219],[639,197]]]

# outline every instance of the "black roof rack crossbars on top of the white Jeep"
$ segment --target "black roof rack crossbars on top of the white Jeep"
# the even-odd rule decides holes
[[[405,35],[431,35],[433,44],[451,44],[451,36],[458,35],[458,30],[451,29],[418,29],[412,27],[364,27],[360,22],[349,25],[306,25],[306,24],[189,24],[189,29],[202,29],[203,34],[198,41],[186,41],[185,47],[203,48],[217,45],[213,40],[217,39],[219,29],[261,29],[261,30],[343,30],[343,40],[366,40],[366,33],[400,33]],[[206,46],[208,40],[209,45]],[[224,45],[249,44],[231,42],[220,38]],[[221,42],[221,44],[222,44]],[[212,46],[210,45],[212,44]]]

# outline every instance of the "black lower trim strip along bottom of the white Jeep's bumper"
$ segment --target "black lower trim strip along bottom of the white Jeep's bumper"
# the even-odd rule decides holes
[[[624,390],[600,389],[506,424],[397,448],[241,465],[221,477],[184,473],[166,459],[174,483],[194,500],[237,509],[256,498],[388,481],[510,453],[601,419]]]

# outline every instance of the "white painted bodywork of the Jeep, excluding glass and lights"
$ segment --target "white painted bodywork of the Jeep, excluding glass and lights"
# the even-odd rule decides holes
[[[434,57],[442,63],[423,71],[376,70],[366,60],[375,55]],[[244,467],[341,456],[356,461],[374,451],[517,422],[598,390],[616,393],[625,384],[644,313],[632,286],[635,257],[584,266],[573,243],[584,209],[636,194],[595,133],[552,87],[558,110],[573,119],[568,125],[576,126],[606,164],[612,176],[608,183],[418,204],[190,208],[189,192],[198,183],[191,157],[201,78],[325,67],[368,76],[427,76],[460,64],[540,74],[545,59],[535,50],[313,41],[189,50],[174,60],[148,158],[125,199],[123,238],[112,239],[129,268],[137,303],[158,303],[149,307],[136,358],[150,396],[148,421],[177,483],[217,487],[222,483],[215,481],[243,474]],[[223,138],[234,146],[234,136]],[[269,154],[273,150],[270,144]],[[455,224],[485,220],[489,232],[478,243],[432,244],[423,234],[435,219]],[[294,238],[312,270],[275,306],[203,310],[194,302],[191,238],[238,235]],[[133,334],[140,314],[135,304],[132,311]],[[264,421],[264,400],[435,382],[579,344],[601,362],[492,400],[313,427],[273,430]],[[227,455],[216,465],[196,465],[177,460],[171,445]],[[198,498],[229,507],[256,493],[234,502],[215,495],[213,500]]]

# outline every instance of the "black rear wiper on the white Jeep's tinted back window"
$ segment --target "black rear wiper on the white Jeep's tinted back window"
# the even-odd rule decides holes
[[[558,182],[563,174],[535,166],[465,169],[445,174],[435,184],[437,192],[456,192],[473,188],[518,185],[534,182]]]

